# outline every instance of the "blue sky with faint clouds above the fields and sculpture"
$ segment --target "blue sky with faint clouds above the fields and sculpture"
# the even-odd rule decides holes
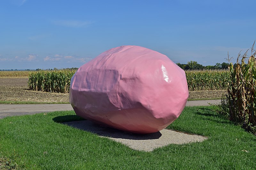
[[[256,39],[256,1],[1,0],[0,69],[80,67],[138,45],[175,63],[227,62]]]

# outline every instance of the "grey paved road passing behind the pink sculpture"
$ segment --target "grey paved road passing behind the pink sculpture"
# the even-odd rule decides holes
[[[208,103],[218,104],[220,100],[188,101],[186,106],[209,106]],[[7,105],[0,104],[0,119],[14,115],[32,115],[35,113],[73,110],[70,104],[32,104],[32,105]]]

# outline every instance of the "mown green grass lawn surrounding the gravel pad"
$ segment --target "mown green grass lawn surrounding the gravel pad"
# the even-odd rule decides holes
[[[256,137],[214,109],[185,107],[168,126],[207,140],[152,152],[59,123],[82,120],[73,111],[6,117],[0,119],[0,158],[25,169],[256,169]]]

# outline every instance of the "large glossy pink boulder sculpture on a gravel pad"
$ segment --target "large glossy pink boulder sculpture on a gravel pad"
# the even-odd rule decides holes
[[[187,99],[185,72],[166,55],[139,46],[112,48],[85,63],[69,91],[78,116],[140,134],[166,128]]]

